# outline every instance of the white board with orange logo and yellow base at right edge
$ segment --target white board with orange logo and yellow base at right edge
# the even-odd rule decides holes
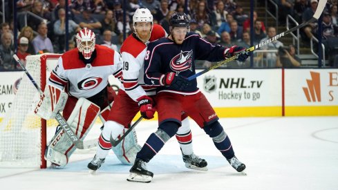
[[[337,115],[338,69],[285,70],[285,115]]]

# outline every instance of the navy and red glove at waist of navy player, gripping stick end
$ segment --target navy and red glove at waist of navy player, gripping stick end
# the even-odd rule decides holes
[[[164,86],[171,86],[177,91],[182,91],[183,89],[187,88],[187,86],[189,86],[190,82],[184,77],[170,72],[165,74],[165,76],[162,78],[162,84]]]

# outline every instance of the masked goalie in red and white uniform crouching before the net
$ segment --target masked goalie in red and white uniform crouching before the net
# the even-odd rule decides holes
[[[121,77],[122,59],[118,52],[96,45],[94,32],[87,28],[77,33],[76,41],[77,48],[64,53],[50,74],[36,113],[48,120],[62,111],[69,126],[83,140],[100,110],[116,96],[108,86],[108,77]],[[74,151],[71,140],[58,128],[46,148],[45,158],[64,167]]]

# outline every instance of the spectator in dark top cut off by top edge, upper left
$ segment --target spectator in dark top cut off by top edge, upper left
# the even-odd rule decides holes
[[[50,20],[50,15],[46,14],[43,10],[43,4],[41,1],[34,1],[31,12],[36,16],[27,15],[27,25],[30,26],[33,30],[37,31],[37,28],[41,21]]]

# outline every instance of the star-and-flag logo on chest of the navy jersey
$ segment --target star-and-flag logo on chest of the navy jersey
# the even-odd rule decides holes
[[[192,50],[190,51],[180,51],[180,54],[176,55],[170,61],[170,68],[176,73],[180,73],[184,70],[191,70],[192,64]]]

